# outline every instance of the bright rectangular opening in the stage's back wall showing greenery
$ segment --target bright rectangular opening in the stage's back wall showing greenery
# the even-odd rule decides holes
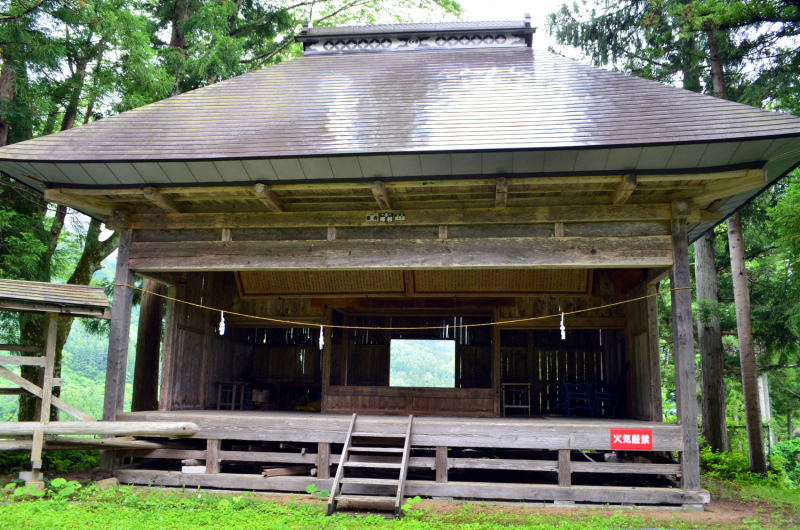
[[[392,339],[389,386],[455,388],[456,341]]]

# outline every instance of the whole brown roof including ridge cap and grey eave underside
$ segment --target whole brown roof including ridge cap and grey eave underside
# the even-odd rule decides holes
[[[311,29],[314,53],[6,146],[0,171],[41,189],[760,167],[774,179],[800,162],[800,118],[535,51],[524,22],[404,28]],[[370,53],[381,32],[391,43]],[[338,42],[351,34],[365,37]]]

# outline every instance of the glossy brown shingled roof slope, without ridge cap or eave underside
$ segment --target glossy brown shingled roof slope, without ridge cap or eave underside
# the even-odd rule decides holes
[[[521,47],[304,56],[6,146],[0,160],[564,149],[797,134],[795,116]]]

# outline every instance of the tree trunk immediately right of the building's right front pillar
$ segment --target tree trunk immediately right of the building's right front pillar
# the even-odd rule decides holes
[[[694,276],[697,301],[707,300],[712,309],[719,303],[717,260],[714,231],[709,230],[694,244]],[[715,451],[728,450],[728,425],[725,418],[725,362],[719,316],[711,314],[707,322],[697,320],[702,374],[703,436]]]

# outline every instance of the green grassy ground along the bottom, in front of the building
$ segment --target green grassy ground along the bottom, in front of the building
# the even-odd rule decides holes
[[[325,502],[309,495],[220,494],[202,490],[119,487],[100,491],[87,485],[76,493],[40,499],[0,494],[0,528],[290,530],[305,528],[382,529],[559,529],[633,528],[787,529],[800,528],[800,492],[753,490],[735,482],[708,485],[714,500],[702,512],[632,509],[536,508],[484,503],[422,501],[402,520],[378,510],[343,506],[325,516]]]

